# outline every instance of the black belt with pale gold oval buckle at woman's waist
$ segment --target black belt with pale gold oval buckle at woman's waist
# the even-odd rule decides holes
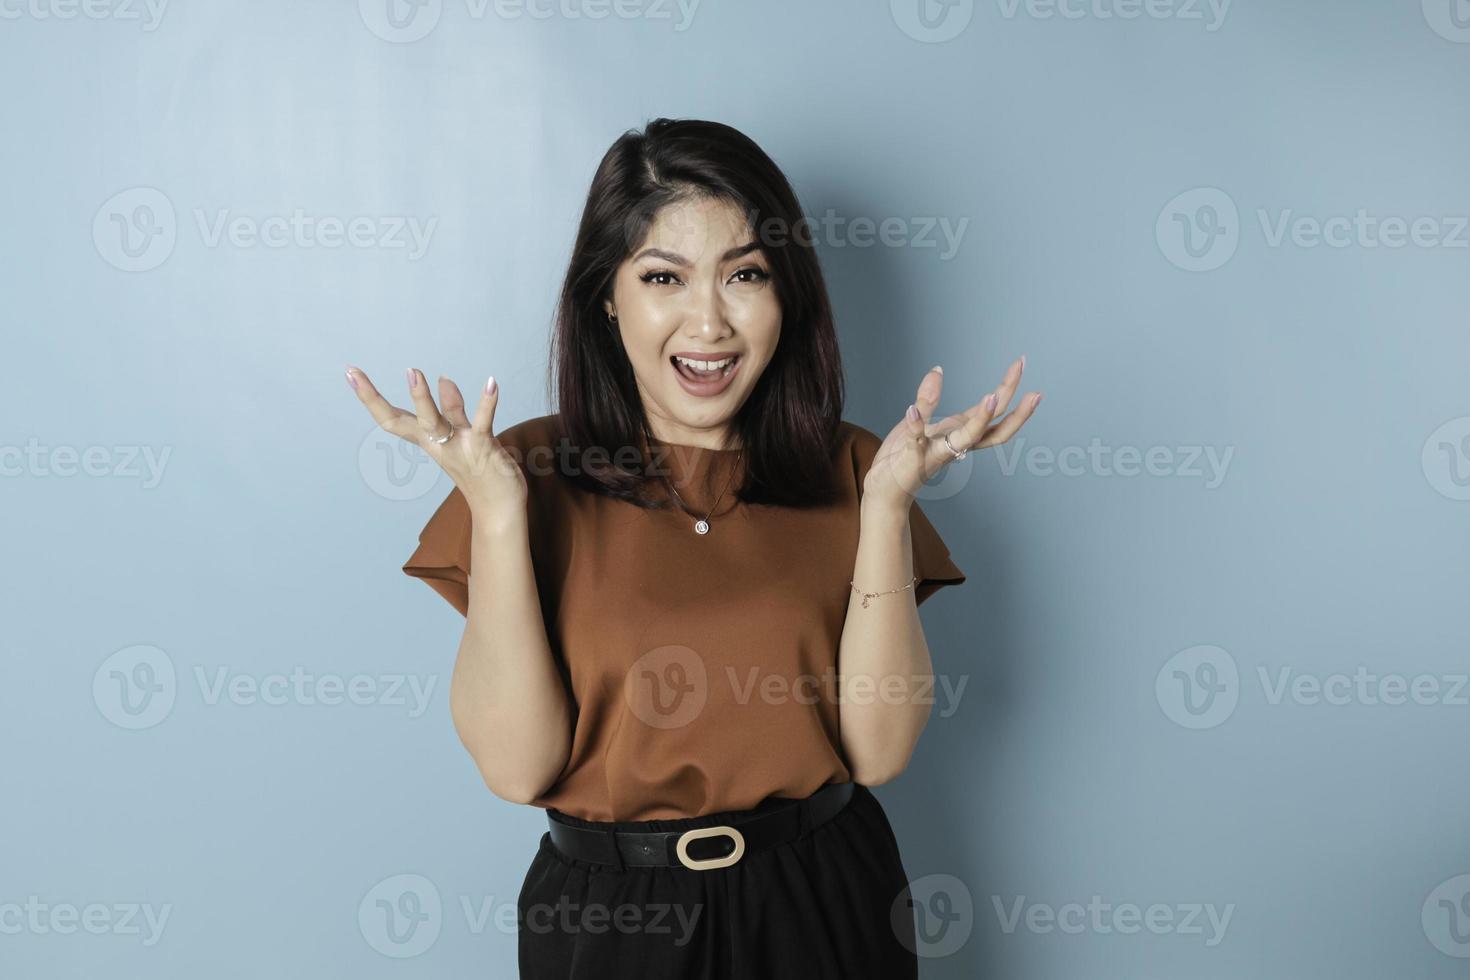
[[[828,783],[806,799],[794,801],[792,807],[778,807],[769,813],[732,817],[728,823],[692,830],[666,830],[657,833],[632,833],[623,830],[598,830],[575,827],[557,818],[554,810],[547,810],[551,824],[551,843],[562,854],[613,867],[678,867],[695,871],[729,867],[745,854],[785,843],[820,827],[842,811],[853,798],[853,783]],[[729,843],[722,854],[695,857],[689,846],[698,840],[723,837]],[[700,845],[704,849],[706,845]]]

